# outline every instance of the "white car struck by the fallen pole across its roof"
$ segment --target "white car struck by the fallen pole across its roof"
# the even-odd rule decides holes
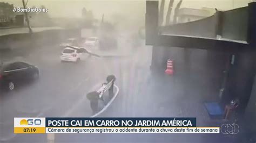
[[[61,61],[78,62],[85,60],[89,56],[88,51],[85,48],[67,46],[63,49],[60,55]]]

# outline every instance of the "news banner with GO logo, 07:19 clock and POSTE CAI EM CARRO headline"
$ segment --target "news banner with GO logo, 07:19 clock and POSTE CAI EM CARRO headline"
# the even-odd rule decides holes
[[[196,118],[14,118],[14,133],[219,133]]]

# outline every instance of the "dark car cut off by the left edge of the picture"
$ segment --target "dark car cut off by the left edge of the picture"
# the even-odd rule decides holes
[[[0,67],[1,89],[14,90],[16,85],[39,77],[39,70],[25,62],[13,62]]]

